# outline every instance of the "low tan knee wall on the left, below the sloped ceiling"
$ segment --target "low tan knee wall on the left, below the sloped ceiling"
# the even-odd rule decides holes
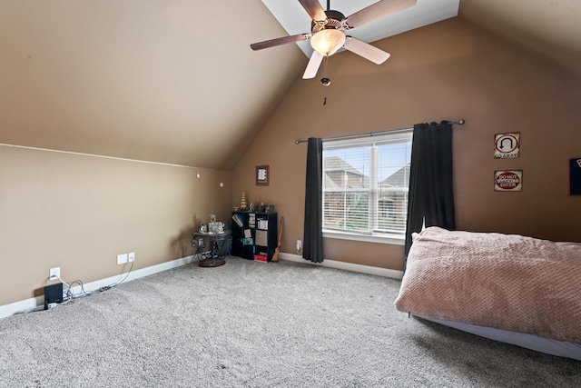
[[[231,210],[231,172],[200,174],[0,145],[0,305],[42,294],[52,267],[88,283],[127,271],[117,254],[133,269],[191,255],[194,228]]]

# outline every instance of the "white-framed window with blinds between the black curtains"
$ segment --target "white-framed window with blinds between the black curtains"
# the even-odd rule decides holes
[[[411,138],[410,130],[323,143],[325,236],[403,244]]]

